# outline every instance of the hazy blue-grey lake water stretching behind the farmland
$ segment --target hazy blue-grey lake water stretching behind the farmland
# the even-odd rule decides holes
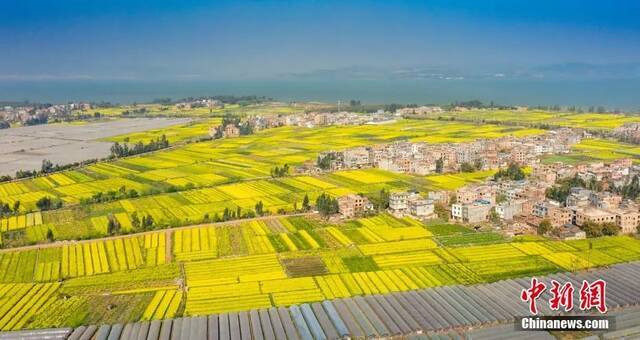
[[[640,80],[241,80],[0,82],[0,100],[150,102],[156,98],[258,95],[282,101],[448,104],[479,99],[509,105],[603,105],[640,110]]]

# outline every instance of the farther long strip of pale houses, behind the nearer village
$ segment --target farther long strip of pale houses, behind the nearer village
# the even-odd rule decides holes
[[[481,139],[470,143],[428,144],[395,142],[327,151],[318,156],[318,164],[327,159],[326,170],[380,168],[387,171],[428,175],[459,172],[465,164],[474,170],[488,170],[515,163],[532,165],[545,154],[568,153],[579,143],[583,133],[572,129],[553,130],[546,134],[516,138],[507,136]],[[305,164],[298,172],[317,172]]]

